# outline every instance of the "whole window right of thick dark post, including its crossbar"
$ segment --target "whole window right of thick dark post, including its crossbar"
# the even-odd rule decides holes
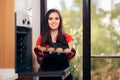
[[[118,80],[120,0],[91,0],[91,78]]]

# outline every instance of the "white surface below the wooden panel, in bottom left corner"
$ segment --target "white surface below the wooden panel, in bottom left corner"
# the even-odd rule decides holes
[[[0,80],[15,80],[17,78],[18,74],[15,73],[15,69],[0,69]]]

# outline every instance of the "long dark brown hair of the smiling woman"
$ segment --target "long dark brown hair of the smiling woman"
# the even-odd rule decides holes
[[[59,24],[59,27],[58,27],[57,42],[61,42],[61,43],[64,43],[64,44],[66,43],[65,32],[64,32],[64,29],[63,29],[63,21],[62,21],[61,14],[56,9],[50,9],[45,15],[44,26],[42,26],[41,46],[45,46],[46,44],[49,44],[49,45],[52,44],[52,39],[51,39],[51,35],[50,35],[50,27],[49,27],[49,24],[48,24],[48,18],[49,18],[49,15],[53,12],[56,12],[60,17],[60,24]]]

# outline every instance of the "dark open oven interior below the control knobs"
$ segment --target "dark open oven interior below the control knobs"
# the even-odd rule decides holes
[[[19,27],[16,29],[16,72],[32,72],[32,29]]]

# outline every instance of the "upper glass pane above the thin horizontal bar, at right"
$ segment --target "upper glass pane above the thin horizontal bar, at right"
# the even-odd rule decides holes
[[[120,0],[91,0],[91,53],[120,53]]]

